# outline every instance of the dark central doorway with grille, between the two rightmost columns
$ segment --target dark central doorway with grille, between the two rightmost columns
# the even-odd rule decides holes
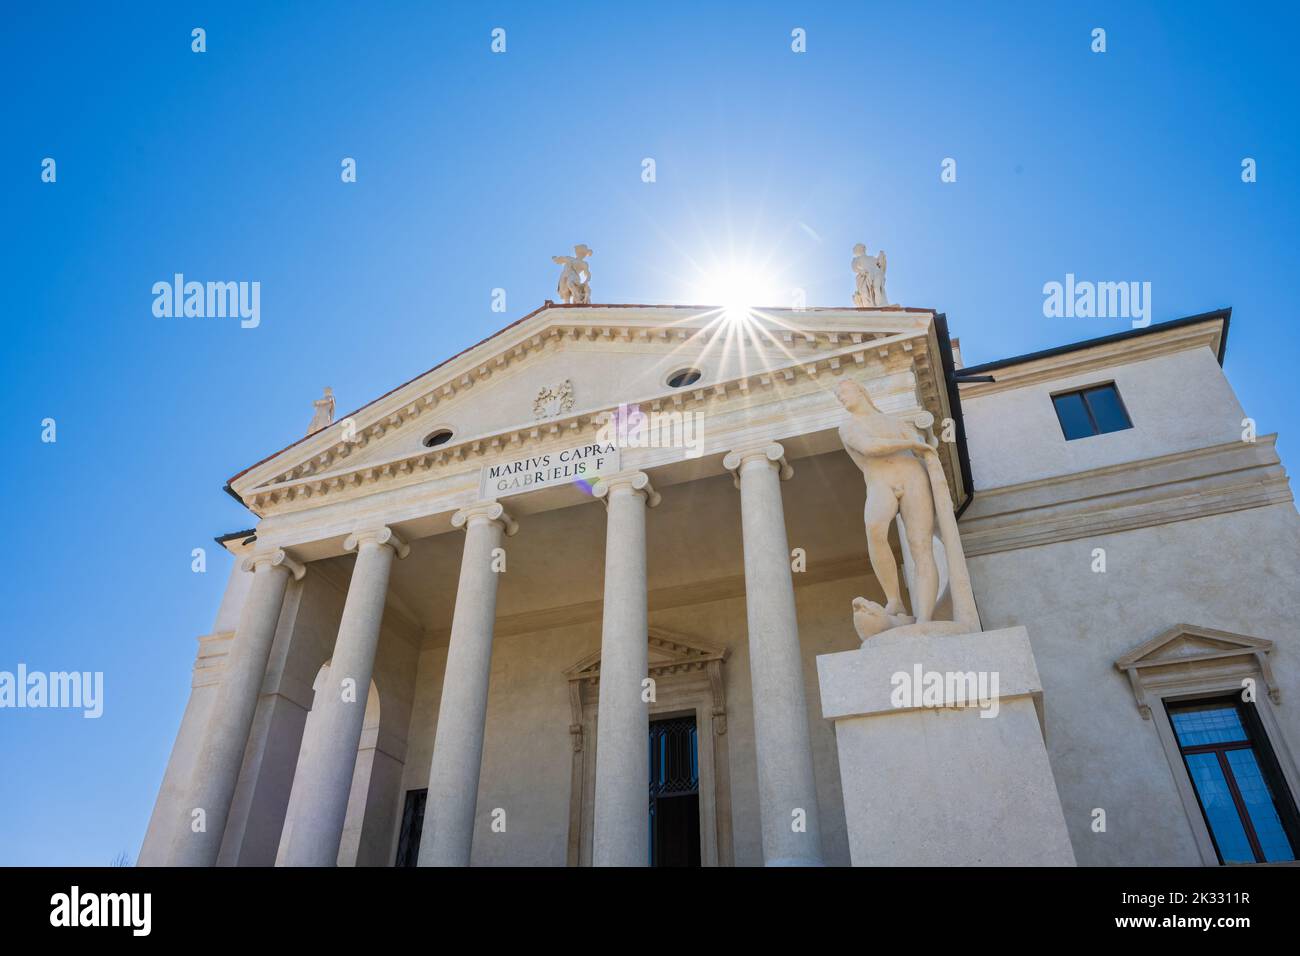
[[[699,866],[699,740],[694,717],[650,722],[650,865]]]

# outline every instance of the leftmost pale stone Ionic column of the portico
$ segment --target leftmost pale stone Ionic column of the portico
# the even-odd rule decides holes
[[[304,574],[303,566],[280,549],[252,554],[244,558],[242,567],[252,572],[252,585],[226,657],[226,672],[217,689],[203,748],[194,765],[185,818],[177,821],[177,836],[172,844],[173,866],[214,866],[217,862],[230,803],[239,782],[239,766],[248,745],[248,731],[266,676],[276,624],[285,604],[285,589],[290,575],[302,580]],[[196,831],[199,821],[203,829]]]

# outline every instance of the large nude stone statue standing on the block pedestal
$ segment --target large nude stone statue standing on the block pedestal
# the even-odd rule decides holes
[[[840,441],[853,463],[862,470],[867,484],[867,505],[863,510],[867,554],[887,598],[883,609],[858,598],[862,605],[854,602],[854,618],[857,620],[859,614],[876,609],[878,619],[874,623],[881,626],[874,627],[874,631],[914,620],[928,622],[939,598],[939,568],[931,541],[935,533],[935,499],[924,457],[933,455],[935,451],[922,440],[915,425],[876,408],[871,395],[858,382],[840,382],[835,397],[849,411],[849,420],[840,425]],[[915,562],[915,587],[911,594],[915,617],[907,615],[904,609],[898,564],[889,548],[889,524],[900,514],[907,548]],[[858,630],[861,633],[861,624]]]

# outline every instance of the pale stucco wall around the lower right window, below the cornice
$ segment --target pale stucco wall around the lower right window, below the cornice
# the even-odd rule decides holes
[[[1300,523],[1292,505],[971,558],[985,628],[1024,624],[1043,678],[1048,754],[1080,865],[1187,865],[1201,858],[1174,770],[1114,661],[1187,623],[1277,641],[1282,704],[1300,756]],[[1092,568],[1092,549],[1106,571]],[[1093,808],[1106,832],[1091,829]]]

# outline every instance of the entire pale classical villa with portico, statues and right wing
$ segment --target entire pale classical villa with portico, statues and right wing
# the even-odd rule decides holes
[[[326,395],[230,479],[140,864],[1295,860],[1300,523],[1227,330],[963,368],[928,310],[549,302]]]

